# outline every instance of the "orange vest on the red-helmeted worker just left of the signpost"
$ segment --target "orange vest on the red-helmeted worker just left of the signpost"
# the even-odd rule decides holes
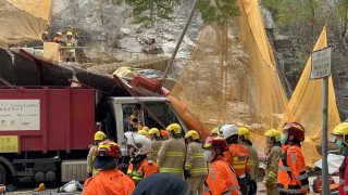
[[[304,157],[298,145],[282,146],[279,157],[277,188],[279,193],[304,194],[309,193],[308,174],[304,170]]]

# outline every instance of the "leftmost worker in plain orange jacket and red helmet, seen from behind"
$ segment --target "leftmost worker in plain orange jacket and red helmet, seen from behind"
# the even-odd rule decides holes
[[[135,188],[128,176],[117,169],[122,157],[120,146],[112,140],[105,140],[98,145],[94,166],[101,169],[99,173],[85,181],[84,195],[130,195]]]

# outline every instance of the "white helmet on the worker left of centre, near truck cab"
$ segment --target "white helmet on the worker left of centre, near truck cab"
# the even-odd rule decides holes
[[[142,134],[128,131],[124,133],[124,136],[127,140],[127,144],[136,148],[134,157],[146,155],[151,152],[151,141]]]

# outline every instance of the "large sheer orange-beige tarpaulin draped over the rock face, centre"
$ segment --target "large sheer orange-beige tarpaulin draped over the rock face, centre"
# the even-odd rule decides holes
[[[171,95],[210,128],[233,122],[263,135],[277,128],[287,99],[258,0],[237,4],[243,15],[232,26],[203,28]]]

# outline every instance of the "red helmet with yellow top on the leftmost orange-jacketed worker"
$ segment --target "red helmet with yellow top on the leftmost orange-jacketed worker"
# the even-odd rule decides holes
[[[122,153],[120,146],[112,140],[108,139],[99,143],[95,156],[120,158],[122,157]]]

